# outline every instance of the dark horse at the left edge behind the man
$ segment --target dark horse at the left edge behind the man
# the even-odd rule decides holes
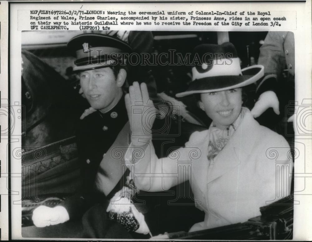
[[[22,50],[22,146],[42,147],[75,135],[86,102],[58,72]],[[29,147],[29,148],[27,148]]]

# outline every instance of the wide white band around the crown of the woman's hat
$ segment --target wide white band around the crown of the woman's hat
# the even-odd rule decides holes
[[[201,68],[201,72],[198,72],[197,68]],[[206,72],[204,70],[207,70]],[[217,76],[241,76],[241,65],[239,58],[229,59],[217,59],[212,60],[212,64],[207,65],[203,63],[200,67],[193,67],[193,81],[196,79],[202,79],[205,77],[217,77]]]

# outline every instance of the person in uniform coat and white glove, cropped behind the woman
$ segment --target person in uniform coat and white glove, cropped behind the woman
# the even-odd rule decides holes
[[[280,106],[295,98],[295,39],[294,33],[270,31],[260,48],[258,64],[264,66],[264,78],[257,82],[259,100],[252,109],[255,118],[272,107],[280,114]],[[283,77],[283,71],[287,74]],[[283,81],[284,80],[284,81]]]

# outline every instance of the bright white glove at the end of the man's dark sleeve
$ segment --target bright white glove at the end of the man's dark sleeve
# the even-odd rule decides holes
[[[32,221],[36,227],[46,227],[64,223],[69,220],[69,215],[65,207],[39,206],[32,212]]]

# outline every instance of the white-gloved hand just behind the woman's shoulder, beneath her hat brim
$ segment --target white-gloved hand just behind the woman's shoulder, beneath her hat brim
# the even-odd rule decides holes
[[[274,91],[265,91],[256,101],[255,106],[251,109],[254,118],[259,117],[268,108],[273,108],[275,114],[280,114],[279,101]]]

